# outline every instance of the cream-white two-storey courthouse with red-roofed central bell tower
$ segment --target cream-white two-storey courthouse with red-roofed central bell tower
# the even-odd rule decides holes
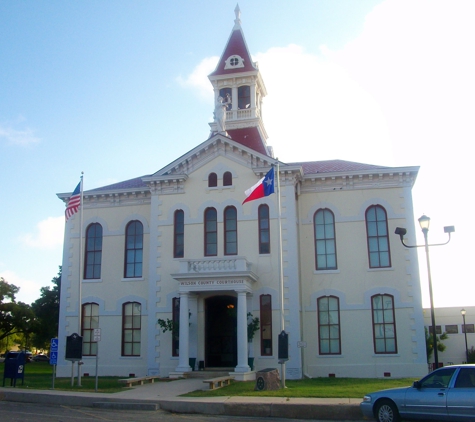
[[[97,328],[99,375],[201,366],[253,379],[248,357],[254,370],[280,368],[282,328],[287,379],[427,373],[417,254],[394,234],[415,233],[419,168],[278,163],[262,117],[265,75],[238,10],[223,44],[209,75],[209,138],[152,174],[85,191],[66,223],[58,376],[71,374],[65,343],[79,316],[91,375]],[[242,204],[273,166],[280,191],[276,181],[275,194]],[[249,313],[260,327],[248,345]],[[179,323],[179,335],[159,319]]]

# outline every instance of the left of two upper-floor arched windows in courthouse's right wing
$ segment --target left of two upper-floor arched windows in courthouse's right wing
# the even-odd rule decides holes
[[[314,232],[317,270],[336,270],[335,218],[330,210],[315,213]]]

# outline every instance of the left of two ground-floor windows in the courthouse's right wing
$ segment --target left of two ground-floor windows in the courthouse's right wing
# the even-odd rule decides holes
[[[318,350],[321,355],[341,354],[340,301],[335,296],[317,299]]]

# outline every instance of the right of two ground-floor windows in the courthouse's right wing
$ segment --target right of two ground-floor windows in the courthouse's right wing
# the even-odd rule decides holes
[[[373,310],[374,353],[397,353],[394,298],[375,295],[371,298]]]

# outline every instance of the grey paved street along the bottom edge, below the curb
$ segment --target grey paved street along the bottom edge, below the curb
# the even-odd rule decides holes
[[[0,420],[2,422],[87,422],[87,421],[121,421],[121,422],[148,422],[148,421],[176,421],[176,422],[270,422],[269,418],[252,418],[243,416],[209,416],[184,415],[168,413],[163,410],[131,411],[94,409],[74,406],[45,406],[41,404],[0,402]],[[297,419],[272,419],[285,422],[298,422]],[[311,420],[306,420],[312,422]],[[313,422],[326,422],[313,420]],[[335,421],[332,421],[335,422]],[[345,422],[345,421],[340,421]],[[352,421],[355,422],[355,421]]]

